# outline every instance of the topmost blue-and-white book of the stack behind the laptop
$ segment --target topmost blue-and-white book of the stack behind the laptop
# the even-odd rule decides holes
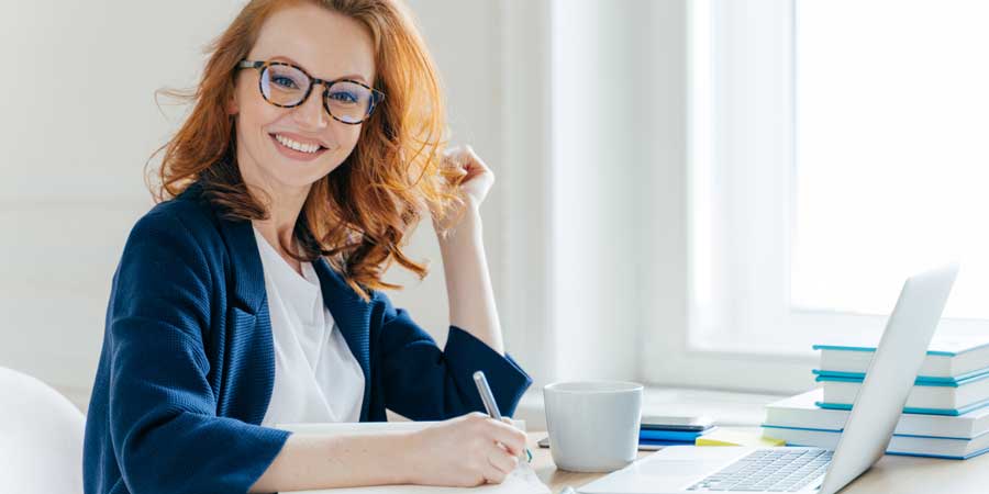
[[[821,350],[821,371],[865,374],[876,352],[875,343],[814,345]],[[964,379],[989,373],[989,338],[985,335],[934,335],[918,375],[926,379]]]

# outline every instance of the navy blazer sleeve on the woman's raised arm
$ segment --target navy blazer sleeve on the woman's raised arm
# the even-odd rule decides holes
[[[385,406],[413,420],[436,420],[485,412],[474,384],[481,370],[498,408],[512,416],[532,379],[505,353],[501,356],[470,333],[451,326],[443,350],[403,308],[395,308],[381,292],[381,372]]]

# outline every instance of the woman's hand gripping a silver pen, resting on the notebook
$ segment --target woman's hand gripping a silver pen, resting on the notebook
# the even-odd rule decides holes
[[[410,439],[410,480],[423,485],[501,483],[525,450],[525,433],[479,412],[416,430]]]

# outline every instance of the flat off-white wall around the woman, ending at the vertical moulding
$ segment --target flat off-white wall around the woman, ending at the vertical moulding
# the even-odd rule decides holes
[[[0,16],[0,366],[35,375],[85,407],[103,336],[110,280],[134,222],[152,201],[151,153],[182,109],[155,105],[162,87],[193,85],[202,48],[242,1],[4,2]],[[411,2],[440,65],[453,136],[499,177],[482,206],[491,277],[505,297],[502,3]],[[191,13],[191,14],[190,14]],[[397,304],[442,344],[447,308],[429,222],[411,252],[433,260]],[[392,272],[391,280],[412,281]],[[514,336],[507,328],[510,351]]]

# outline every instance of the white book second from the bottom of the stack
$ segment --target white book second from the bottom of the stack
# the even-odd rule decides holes
[[[842,430],[851,412],[821,408],[823,390],[816,389],[766,405],[768,426]],[[989,406],[959,416],[902,414],[894,434],[970,439],[989,433]]]

